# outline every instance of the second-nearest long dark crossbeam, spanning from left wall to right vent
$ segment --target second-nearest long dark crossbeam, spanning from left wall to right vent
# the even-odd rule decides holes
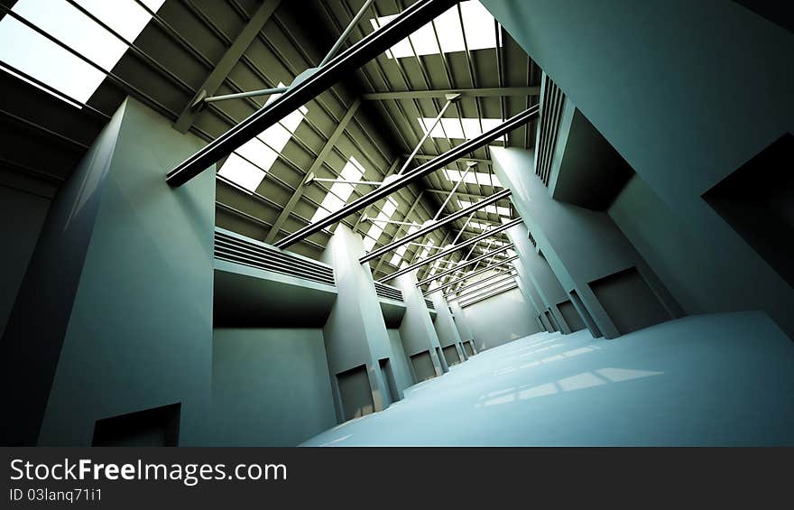
[[[416,5],[416,4],[414,4]],[[394,23],[394,22],[392,22]],[[389,23],[391,24],[391,23]],[[389,26],[389,25],[386,25]],[[384,29],[381,29],[384,30]],[[331,64],[328,64],[329,66]],[[283,96],[282,96],[283,97]],[[275,104],[275,101],[272,103]],[[533,118],[538,116],[539,107],[533,106],[522,113],[518,114],[517,116],[513,116],[503,122],[501,125],[497,125],[491,131],[487,131],[484,134],[480,134],[476,138],[472,138],[471,140],[467,141],[464,144],[457,145],[457,147],[453,148],[452,150],[441,154],[436,159],[420,164],[417,168],[411,170],[411,172],[406,172],[401,175],[399,178],[395,179],[394,181],[389,182],[388,184],[383,184],[377,190],[370,191],[363,197],[359,197],[358,199],[353,200],[349,204],[347,204],[344,208],[337,210],[332,214],[329,214],[326,218],[320,219],[319,221],[312,223],[307,227],[303,227],[300,230],[294,232],[290,236],[284,237],[281,241],[279,241],[275,246],[279,248],[286,248],[287,246],[291,246],[300,239],[305,237],[311,236],[312,234],[319,232],[325,227],[337,223],[342,218],[353,214],[361,209],[364,209],[366,206],[373,204],[374,202],[384,199],[391,195],[394,191],[400,190],[405,186],[408,186],[413,181],[418,181],[425,175],[428,175],[431,172],[435,172],[439,170],[439,168],[443,168],[449,162],[454,162],[457,159],[464,157],[467,153],[471,153],[475,149],[483,147],[487,144],[490,144],[495,139],[499,138],[505,133],[511,132],[513,129],[524,125],[531,121]]]

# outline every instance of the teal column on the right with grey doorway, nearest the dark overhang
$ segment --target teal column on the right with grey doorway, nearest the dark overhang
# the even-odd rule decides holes
[[[549,197],[532,172],[531,151],[495,147],[492,158],[494,171],[512,190],[512,202],[538,244],[538,257],[542,254],[548,261],[566,293],[577,293],[605,338],[683,314],[612,218]],[[553,309],[552,315],[566,327]]]

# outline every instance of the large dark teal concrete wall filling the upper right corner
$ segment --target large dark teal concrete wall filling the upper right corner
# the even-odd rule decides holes
[[[483,4],[660,201],[686,218],[699,242],[681,249],[713,266],[695,275],[688,305],[763,309],[794,336],[794,289],[701,199],[794,132],[794,34],[733,2]],[[747,97],[747,82],[735,79],[735,62],[762,93],[736,100]],[[696,285],[704,291],[693,292]]]

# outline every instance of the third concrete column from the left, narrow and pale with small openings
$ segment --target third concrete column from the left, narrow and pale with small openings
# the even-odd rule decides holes
[[[411,374],[414,372],[411,356],[428,351],[436,376],[440,376],[445,372],[447,364],[439,358],[438,352],[441,349],[439,335],[433,327],[428,305],[416,283],[416,271],[397,277],[397,285],[402,289],[402,299],[405,301],[405,316],[400,324],[402,347],[409,358]],[[420,382],[415,374],[413,380],[415,383]]]

